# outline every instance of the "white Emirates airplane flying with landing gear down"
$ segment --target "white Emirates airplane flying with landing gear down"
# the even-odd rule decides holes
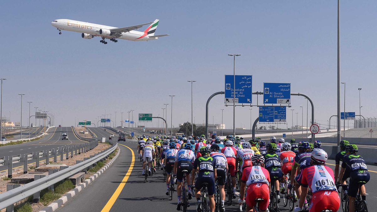
[[[61,30],[81,32],[81,37],[84,39],[92,39],[93,37],[101,37],[101,43],[107,44],[105,39],[110,39],[114,43],[118,42],[117,39],[131,40],[131,41],[148,41],[157,40],[159,37],[166,35],[155,35],[159,20],[154,22],[144,23],[141,25],[128,26],[122,28],[116,28],[113,26],[99,25],[95,23],[80,22],[69,19],[57,19],[51,22],[51,25],[58,29],[59,35]],[[142,28],[145,25],[150,26],[144,31],[136,31],[135,29]]]

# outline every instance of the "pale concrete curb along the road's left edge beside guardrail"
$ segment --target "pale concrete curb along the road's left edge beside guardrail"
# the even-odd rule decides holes
[[[92,183],[95,179],[100,177],[100,175],[103,174],[107,169],[109,169],[109,167],[114,163],[116,158],[118,158],[119,154],[120,154],[120,148],[118,147],[118,152],[116,153],[115,157],[112,160],[110,160],[105,166],[103,166],[98,172],[90,176],[83,183],[78,184],[78,186],[76,186],[74,189],[70,190],[69,192],[64,194],[62,197],[55,200],[54,202],[49,204],[49,206],[45,207],[39,212],[53,212],[57,210],[59,207],[65,204],[68,200],[70,200],[72,197],[74,197],[79,192],[81,192],[81,190],[83,190],[86,186]]]

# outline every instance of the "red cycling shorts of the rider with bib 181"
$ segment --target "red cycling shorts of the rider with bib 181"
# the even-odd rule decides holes
[[[255,199],[261,198],[264,201],[259,203],[260,210],[266,210],[270,203],[270,189],[266,183],[252,183],[247,186],[247,196],[245,198],[248,207],[256,206]]]

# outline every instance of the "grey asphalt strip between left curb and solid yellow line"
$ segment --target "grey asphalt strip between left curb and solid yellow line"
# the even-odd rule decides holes
[[[126,146],[130,145],[128,142],[119,142],[119,144]],[[89,186],[82,190],[78,195],[71,198],[63,207],[60,207],[58,211],[100,211],[106,205],[107,201],[109,201],[109,198],[118,188],[120,183],[126,183],[123,181],[124,176],[129,171],[132,159],[137,159],[137,157],[136,159],[132,158],[131,151],[127,147],[122,145],[118,145],[118,147],[121,152],[112,166],[110,166],[109,169],[93,181],[93,183],[89,184]],[[128,183],[129,181],[127,181],[126,185]],[[119,211],[136,211],[136,209],[137,208],[131,209],[127,205],[123,206]]]

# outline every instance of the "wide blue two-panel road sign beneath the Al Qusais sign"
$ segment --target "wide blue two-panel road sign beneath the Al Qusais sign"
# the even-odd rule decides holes
[[[259,122],[286,122],[287,108],[285,106],[259,107]]]

